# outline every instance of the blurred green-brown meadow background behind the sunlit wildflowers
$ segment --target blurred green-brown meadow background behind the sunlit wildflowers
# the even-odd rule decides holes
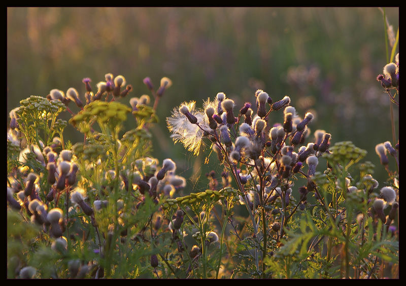
[[[386,8],[386,14],[396,33],[399,9]],[[210,150],[195,159],[174,145],[165,117],[183,101],[201,106],[218,92],[234,99],[238,110],[245,101],[254,103],[257,89],[274,101],[290,96],[301,116],[312,110],[312,131],[331,133],[332,144],[350,140],[366,149],[365,160],[377,166],[374,177],[385,181],[375,153],[376,144],[392,141],[389,99],[376,80],[385,64],[378,8],[7,9],[7,111],[54,88],[74,87],[83,96],[82,78],[95,85],[109,72],[133,86],[121,99],[128,104],[130,97],[149,94],[144,77],[155,86],[170,77],[173,86],[159,103],[160,124],[152,130],[153,154],[177,162],[189,191],[204,189],[205,174],[219,167],[215,159],[204,165]],[[398,126],[397,107],[394,112]],[[282,116],[273,113],[270,120]],[[69,117],[66,112],[64,119]],[[132,125],[129,118],[127,128]],[[83,139],[71,126],[65,138]]]

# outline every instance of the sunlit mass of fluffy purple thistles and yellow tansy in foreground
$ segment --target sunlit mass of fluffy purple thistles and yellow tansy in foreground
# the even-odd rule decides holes
[[[397,54],[378,76],[394,104],[398,67]],[[238,106],[219,92],[166,118],[175,143],[193,155],[207,147],[220,168],[195,191],[176,161],[153,157],[149,129],[171,79],[146,77],[152,96],[127,103],[122,75],[82,82],[83,96],[53,89],[9,114],[9,278],[398,276],[395,140],[377,142],[375,166],[289,96],[256,90]],[[66,141],[67,124],[83,140]],[[373,177],[380,167],[385,182]]]

